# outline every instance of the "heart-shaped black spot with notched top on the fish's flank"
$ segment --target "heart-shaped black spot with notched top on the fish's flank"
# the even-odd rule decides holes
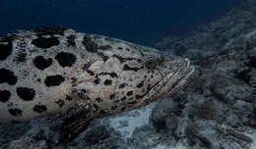
[[[44,70],[52,64],[52,59],[44,59],[42,56],[37,56],[32,61],[34,67],[38,70]]]

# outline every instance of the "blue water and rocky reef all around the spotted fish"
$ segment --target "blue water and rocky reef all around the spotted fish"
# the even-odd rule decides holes
[[[67,145],[57,145],[61,120],[0,125],[0,149],[256,149],[255,0],[0,0],[0,17],[1,36],[63,25],[200,70],[178,93],[97,120]]]

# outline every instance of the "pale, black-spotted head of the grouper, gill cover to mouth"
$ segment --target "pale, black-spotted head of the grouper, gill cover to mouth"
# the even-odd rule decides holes
[[[83,75],[87,80],[79,84],[87,90],[87,99],[105,113],[145,106],[176,93],[191,80],[195,69],[188,59],[148,47],[124,45],[126,48],[122,49],[126,50],[102,52],[105,61],[95,61],[88,68],[91,76]]]

